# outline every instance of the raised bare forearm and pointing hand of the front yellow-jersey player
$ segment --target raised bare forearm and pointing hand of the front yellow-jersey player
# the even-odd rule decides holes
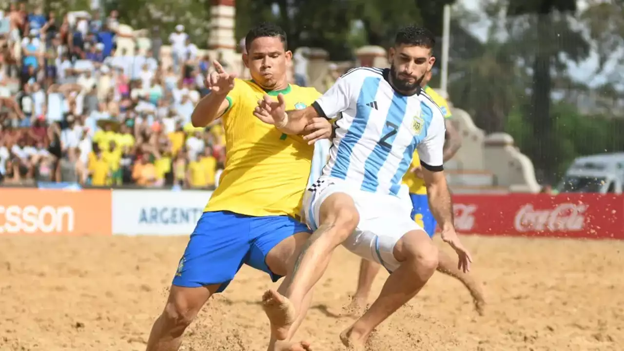
[[[215,71],[206,77],[205,82],[210,93],[200,100],[191,115],[191,122],[196,128],[208,126],[232,107],[233,101],[228,98],[228,93],[234,89],[236,76],[225,72],[217,61],[213,62],[213,66]]]

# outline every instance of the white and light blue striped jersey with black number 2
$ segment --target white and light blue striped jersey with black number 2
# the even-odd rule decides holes
[[[352,69],[313,103],[319,115],[338,116],[324,177],[397,195],[416,148],[423,167],[442,171],[442,111],[420,89],[412,96],[392,89],[389,71]]]

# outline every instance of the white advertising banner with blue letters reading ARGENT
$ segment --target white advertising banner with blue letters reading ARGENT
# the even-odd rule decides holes
[[[113,190],[114,235],[190,235],[208,190]]]

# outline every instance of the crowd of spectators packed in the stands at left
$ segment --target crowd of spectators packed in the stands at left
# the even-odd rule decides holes
[[[0,12],[0,183],[207,188],[225,162],[222,126],[193,128],[212,62],[183,26],[167,60],[117,46],[117,12],[11,4]],[[171,62],[165,66],[163,62]],[[222,62],[228,66],[227,62]]]

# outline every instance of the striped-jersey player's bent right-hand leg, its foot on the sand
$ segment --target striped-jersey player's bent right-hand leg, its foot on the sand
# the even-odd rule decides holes
[[[391,245],[392,242],[386,242],[380,247],[387,252]],[[392,267],[398,267],[390,274],[371,307],[342,332],[340,338],[343,344],[353,350],[364,350],[364,344],[375,327],[416,296],[431,278],[436,271],[437,254],[437,247],[424,230],[411,230],[396,241],[392,249],[396,264]]]

